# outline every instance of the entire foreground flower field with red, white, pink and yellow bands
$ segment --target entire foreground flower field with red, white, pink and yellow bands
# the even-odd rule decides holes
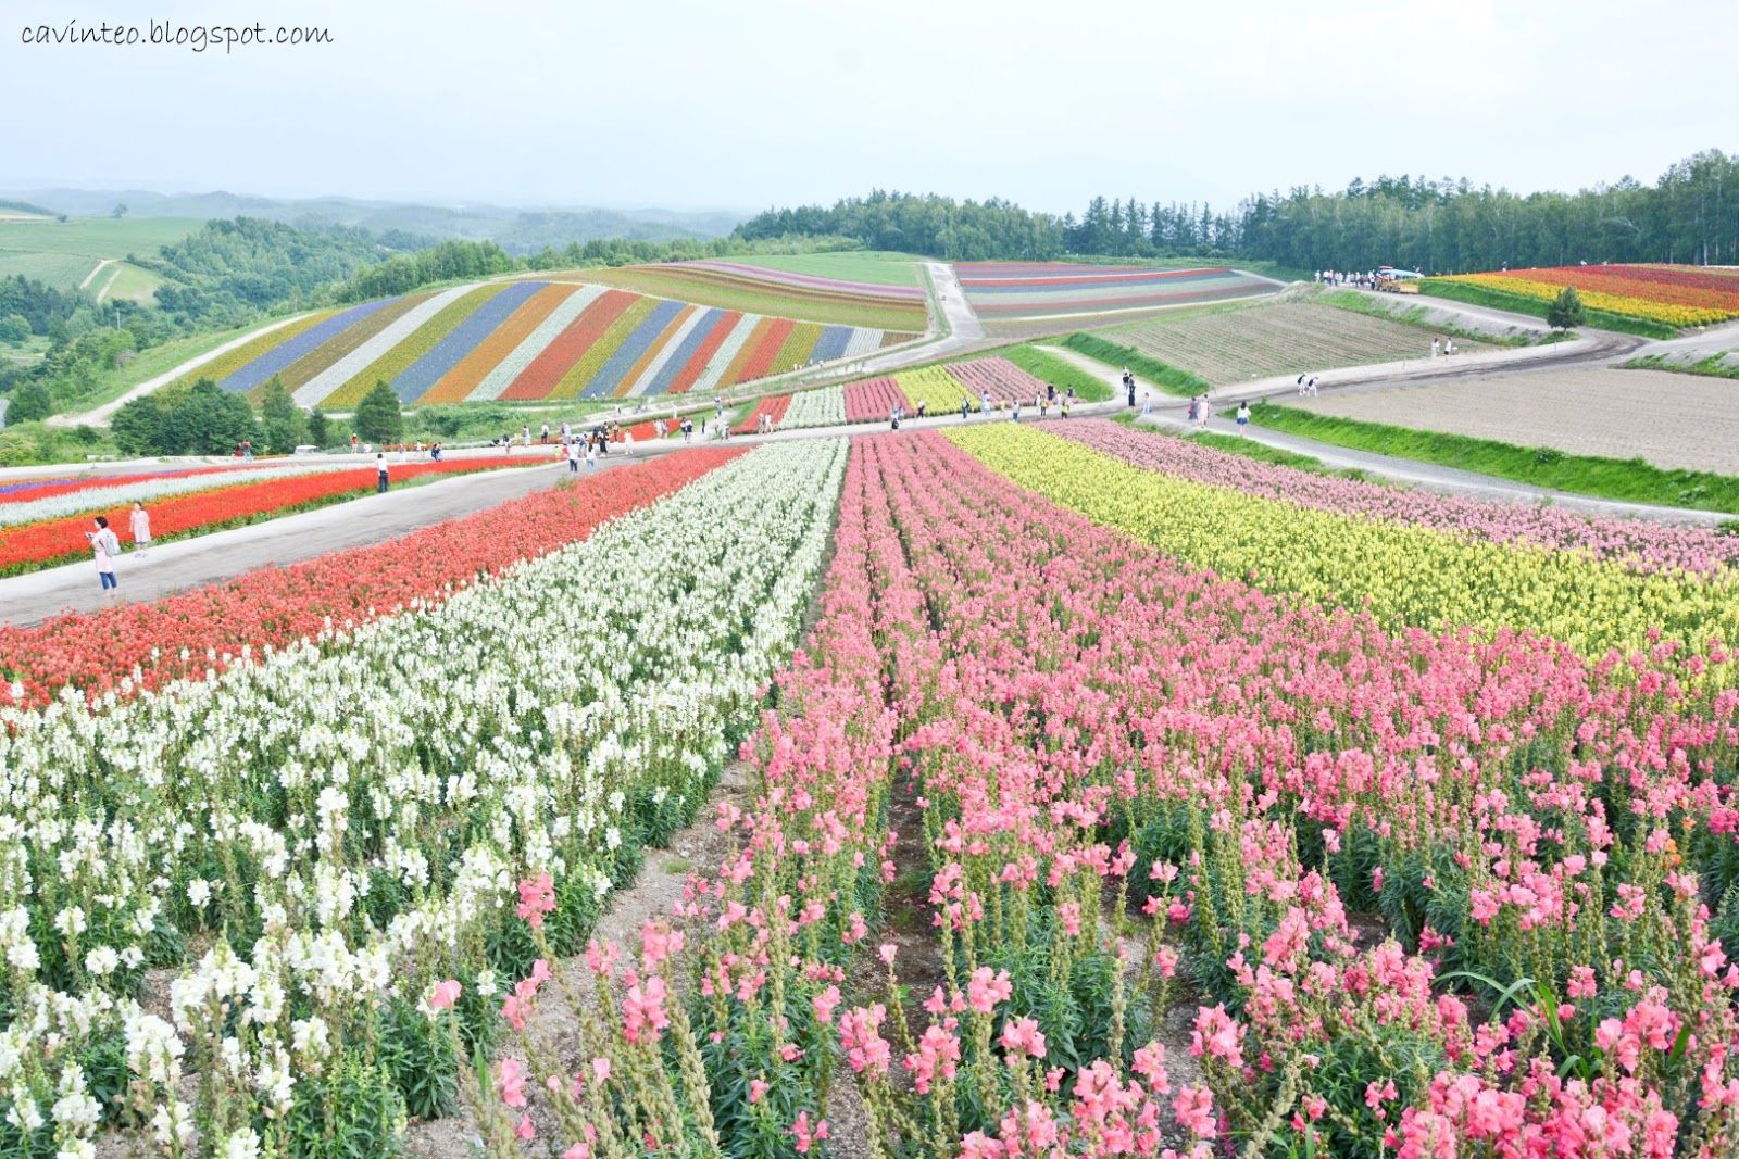
[[[996,422],[0,629],[0,1150],[1723,1159],[1736,556]]]

